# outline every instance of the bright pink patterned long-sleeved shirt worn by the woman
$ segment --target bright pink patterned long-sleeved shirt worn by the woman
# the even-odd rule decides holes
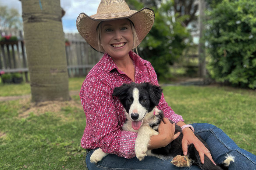
[[[151,82],[158,85],[155,70],[150,62],[143,60],[134,52],[129,52],[135,64],[135,83]],[[100,147],[105,153],[113,153],[125,158],[135,156],[137,133],[122,131],[125,121],[124,107],[117,97],[112,97],[114,87],[132,80],[105,53],[102,59],[91,69],[80,90],[80,99],[86,116],[86,127],[81,146],[86,149]],[[183,121],[164,100],[160,100],[158,109],[165,117],[174,122]]]

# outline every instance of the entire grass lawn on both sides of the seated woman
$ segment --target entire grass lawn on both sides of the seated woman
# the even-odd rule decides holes
[[[84,78],[70,79],[79,90]],[[3,90],[4,89],[4,90]],[[186,123],[217,125],[256,154],[256,93],[229,87],[163,87],[166,101]],[[0,85],[0,96],[29,94],[29,85]],[[85,169],[80,139],[85,115],[78,96],[68,102],[0,102],[0,169]]]

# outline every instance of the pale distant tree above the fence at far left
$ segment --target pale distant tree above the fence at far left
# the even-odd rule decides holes
[[[10,28],[22,28],[21,16],[18,10],[0,6],[0,29],[6,31]]]

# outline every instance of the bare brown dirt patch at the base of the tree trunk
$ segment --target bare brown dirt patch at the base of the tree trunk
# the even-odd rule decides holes
[[[45,101],[40,103],[32,103],[30,100],[30,98],[27,98],[20,101],[23,108],[18,116],[19,118],[27,118],[31,112],[33,112],[35,115],[44,114],[45,112],[56,113],[65,107],[76,107],[82,109],[80,101]]]

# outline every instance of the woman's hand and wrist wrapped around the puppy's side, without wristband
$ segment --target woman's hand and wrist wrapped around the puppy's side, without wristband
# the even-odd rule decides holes
[[[163,118],[163,121],[161,121],[158,132],[158,135],[154,135],[150,138],[149,150],[165,147],[181,134],[180,132],[174,134],[175,124],[171,124],[167,118]]]

